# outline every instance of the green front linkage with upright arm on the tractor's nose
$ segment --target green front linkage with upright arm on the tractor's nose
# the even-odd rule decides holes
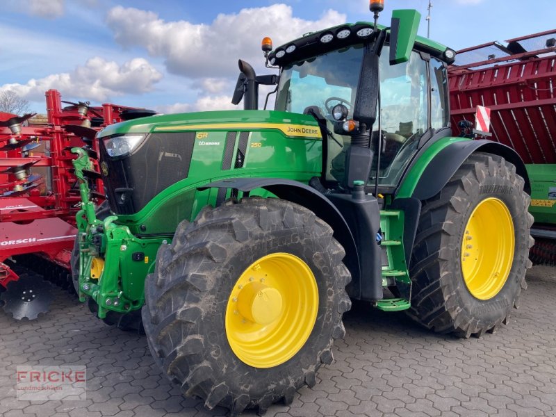
[[[162,239],[133,236],[129,227],[114,223],[115,215],[97,218],[97,208],[89,198],[88,178],[83,172],[91,170],[90,159],[79,147],[72,148],[72,152],[79,155],[73,164],[81,193],[81,210],[76,214],[79,300],[94,300],[97,316],[102,319],[110,311],[125,314],[139,310],[145,302],[145,277],[152,272]]]

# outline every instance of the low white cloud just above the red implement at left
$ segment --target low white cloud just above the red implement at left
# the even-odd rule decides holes
[[[25,84],[4,84],[2,90],[13,90],[20,97],[40,101],[50,88],[60,90],[64,97],[105,101],[124,94],[140,94],[152,90],[162,74],[144,58],[133,58],[118,65],[104,58],[90,58],[72,72],[51,74],[31,79]]]

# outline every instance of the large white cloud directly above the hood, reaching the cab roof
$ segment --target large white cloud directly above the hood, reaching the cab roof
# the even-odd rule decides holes
[[[345,19],[335,10],[325,11],[315,21],[300,19],[293,16],[290,6],[274,4],[220,14],[211,24],[166,22],[153,12],[116,6],[108,12],[106,22],[124,47],[144,47],[151,56],[163,57],[169,72],[196,78],[236,74],[238,58],[254,65],[263,63],[264,36],[278,46]]]

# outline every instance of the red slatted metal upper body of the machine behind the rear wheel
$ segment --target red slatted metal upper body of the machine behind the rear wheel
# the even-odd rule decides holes
[[[458,51],[448,68],[454,134],[491,109],[492,139],[525,163],[556,163],[556,29]],[[529,49],[529,50],[528,50]]]

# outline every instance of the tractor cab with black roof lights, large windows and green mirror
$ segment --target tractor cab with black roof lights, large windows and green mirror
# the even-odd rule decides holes
[[[275,110],[309,114],[320,125],[327,188],[361,180],[393,193],[418,150],[449,135],[446,66],[455,53],[416,38],[419,17],[395,10],[391,27],[343,24],[274,51],[263,40],[268,64],[279,67]]]

